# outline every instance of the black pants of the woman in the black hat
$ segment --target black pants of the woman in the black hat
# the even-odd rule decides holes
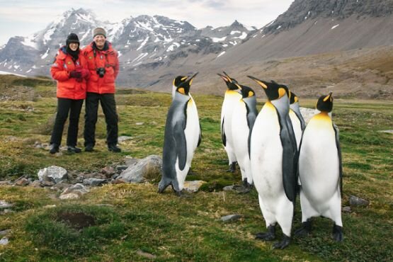
[[[78,139],[79,115],[81,113],[83,103],[83,99],[74,100],[69,98],[57,98],[57,114],[52,137],[50,137],[50,144],[62,144],[64,123],[66,122],[69,113],[67,146],[76,146],[76,141]]]

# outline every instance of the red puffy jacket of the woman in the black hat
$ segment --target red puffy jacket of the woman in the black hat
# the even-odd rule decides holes
[[[71,78],[72,71],[84,71],[81,79]],[[86,98],[86,79],[89,79],[86,59],[83,55],[74,62],[72,56],[67,54],[66,47],[61,47],[55,62],[50,67],[52,78],[57,80],[57,98],[84,99]]]

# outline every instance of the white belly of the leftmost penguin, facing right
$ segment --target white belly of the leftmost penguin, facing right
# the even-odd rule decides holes
[[[178,186],[180,190],[184,187],[184,181],[186,181],[188,170],[191,167],[191,161],[193,160],[195,149],[198,147],[200,135],[198,110],[193,98],[191,98],[187,104],[187,122],[184,134],[186,136],[187,159],[186,166],[184,166],[183,170],[178,168],[178,159],[176,159],[176,176],[178,178]]]

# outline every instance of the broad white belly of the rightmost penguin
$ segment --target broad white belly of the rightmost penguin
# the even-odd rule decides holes
[[[299,174],[302,192],[310,205],[323,215],[337,198],[339,190],[339,160],[336,136],[331,122],[310,120],[302,139]],[[334,200],[336,201],[336,200]]]

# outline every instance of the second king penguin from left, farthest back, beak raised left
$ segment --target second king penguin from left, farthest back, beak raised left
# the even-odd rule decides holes
[[[225,151],[229,159],[229,171],[234,172],[236,169],[237,158],[234,153],[234,138],[232,134],[232,113],[234,112],[234,104],[241,99],[239,84],[235,79],[231,79],[227,73],[225,76],[218,74],[227,84],[227,91],[225,91],[224,102],[222,102],[221,109],[221,137],[222,144],[224,144]]]

